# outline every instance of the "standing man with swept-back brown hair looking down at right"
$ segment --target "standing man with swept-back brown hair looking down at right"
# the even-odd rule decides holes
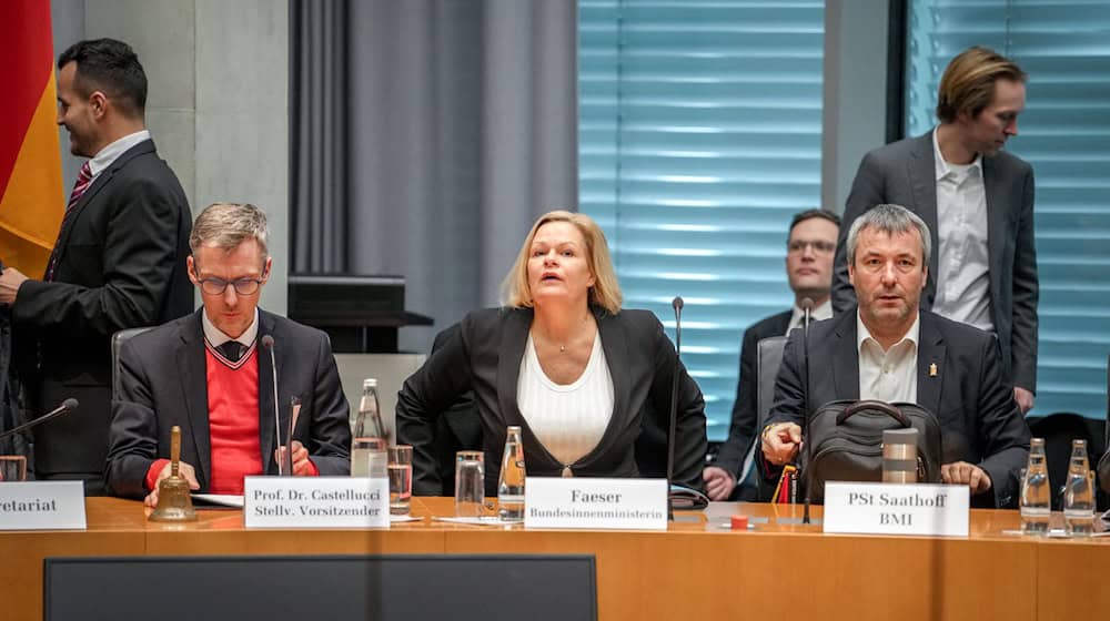
[[[1018,133],[1025,82],[1013,61],[985,48],[952,59],[940,80],[940,124],[877,149],[859,164],[833,285],[839,314],[855,304],[844,235],[859,214],[894,203],[919,215],[937,250],[922,307],[998,335],[1002,377],[1022,413],[1032,408],[1037,389],[1033,172],[1002,147]]]

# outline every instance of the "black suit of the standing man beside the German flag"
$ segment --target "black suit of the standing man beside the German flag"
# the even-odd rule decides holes
[[[37,471],[99,478],[111,419],[111,336],[193,309],[185,273],[192,216],[152,141],[120,155],[74,208],[58,241],[54,281],[24,283],[12,314],[32,413],[65,397],[81,403],[34,429]]]

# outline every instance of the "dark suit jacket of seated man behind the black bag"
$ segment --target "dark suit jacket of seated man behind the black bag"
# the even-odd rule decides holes
[[[1029,426],[1002,381],[996,339],[978,328],[921,312],[917,348],[917,404],[937,415],[944,460],[982,468],[992,498],[975,506],[1009,507],[1018,500],[1018,471],[1029,459]],[[794,330],[783,354],[768,423],[801,425],[803,343]],[[937,375],[929,369],[936,365]],[[859,399],[856,308],[809,327],[809,409],[838,399]],[[992,501],[992,502],[991,502]]]

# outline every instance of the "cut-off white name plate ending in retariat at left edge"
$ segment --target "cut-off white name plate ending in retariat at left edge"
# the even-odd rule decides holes
[[[0,483],[0,530],[83,529],[81,481]]]

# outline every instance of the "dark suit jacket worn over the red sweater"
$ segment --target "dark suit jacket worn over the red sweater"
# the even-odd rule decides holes
[[[212,476],[208,384],[201,313],[140,334],[120,350],[121,391],[112,401],[111,445],[105,472],[117,496],[141,498],[147,471],[170,456],[170,428],[181,426],[181,459],[196,470],[201,491]],[[278,403],[282,435],[289,428],[292,397],[301,413],[293,438],[309,449],[322,476],[351,469],[351,423],[346,398],[327,335],[284,317],[260,312],[259,335],[274,337]],[[278,472],[274,437],[273,366],[261,346],[259,358],[259,435],[268,475]]]

